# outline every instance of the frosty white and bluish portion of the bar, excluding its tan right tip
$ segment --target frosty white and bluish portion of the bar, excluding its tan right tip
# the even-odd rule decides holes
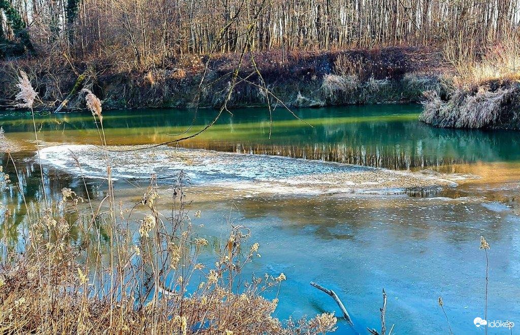
[[[111,147],[110,149],[113,149]],[[184,170],[195,179],[275,180],[302,175],[364,171],[372,168],[322,161],[267,155],[216,152],[202,149],[156,147],[137,151],[104,151],[93,145],[58,145],[40,150],[42,161],[73,173],[80,173],[74,155],[81,163],[83,174],[106,176],[108,156],[112,175],[117,178],[149,178],[152,173],[171,177]]]

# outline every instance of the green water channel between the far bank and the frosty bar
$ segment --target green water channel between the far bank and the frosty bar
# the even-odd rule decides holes
[[[266,153],[353,163],[390,169],[413,169],[474,162],[512,162],[520,133],[509,131],[437,129],[418,121],[419,105],[346,106],[297,109],[297,120],[276,109],[269,138],[265,108],[232,110],[201,135],[182,142],[185,147],[219,151]],[[192,134],[216,115],[200,109]],[[170,141],[185,132],[194,110],[138,109],[106,111],[103,122],[109,144],[149,144]],[[11,139],[32,139],[32,120],[4,114],[0,122]],[[42,141],[99,143],[92,116],[56,114],[36,118]]]

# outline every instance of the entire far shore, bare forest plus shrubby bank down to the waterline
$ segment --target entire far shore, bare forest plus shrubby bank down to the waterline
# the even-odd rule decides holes
[[[2,106],[12,105],[23,69],[36,108],[84,108],[76,93],[87,88],[106,108],[422,102],[421,119],[439,127],[520,126],[517,0],[0,0],[0,8]]]

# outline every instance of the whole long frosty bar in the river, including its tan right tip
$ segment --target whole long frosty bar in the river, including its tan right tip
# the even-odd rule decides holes
[[[85,177],[105,178],[108,161],[114,179],[149,178],[151,174],[172,178],[183,170],[196,184],[280,193],[294,188],[313,194],[451,183],[421,174],[317,160],[167,146],[124,151],[131,148],[112,146],[109,150],[120,151],[107,151],[93,145],[57,145],[42,148],[40,157],[45,164]]]

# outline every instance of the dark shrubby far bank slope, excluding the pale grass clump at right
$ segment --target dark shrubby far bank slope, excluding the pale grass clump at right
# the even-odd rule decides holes
[[[230,73],[239,68],[239,83],[229,107],[320,107],[346,104],[406,103],[423,100],[424,91],[443,95],[441,74],[448,65],[440,50],[418,47],[350,49],[342,51],[264,51],[249,55],[189,56],[169,59],[164,66],[123,69],[110,60],[70,63],[42,59],[10,60],[0,69],[2,105],[15,100],[15,80],[23,69],[35,83],[41,99],[36,107],[63,110],[84,107],[79,87],[94,91],[103,107],[217,107],[225,100]],[[40,66],[34,66],[40,64]],[[207,66],[207,67],[206,67]],[[258,73],[255,72],[258,68]],[[204,78],[204,79],[203,79]],[[265,87],[279,101],[266,99]],[[202,84],[201,84],[202,83]],[[73,94],[70,94],[73,93]],[[70,96],[69,96],[70,95]]]

